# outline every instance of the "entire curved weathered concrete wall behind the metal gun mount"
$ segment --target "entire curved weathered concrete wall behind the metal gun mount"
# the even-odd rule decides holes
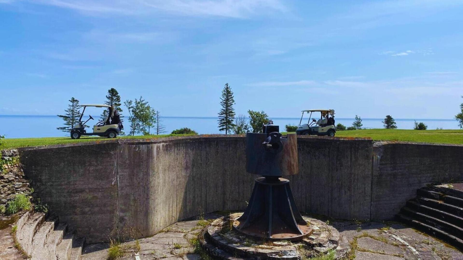
[[[244,209],[255,175],[242,136],[197,136],[21,149],[25,175],[60,221],[88,242],[127,228],[150,236],[203,212]],[[416,189],[461,180],[463,146],[298,138],[291,176],[302,212],[388,219]]]

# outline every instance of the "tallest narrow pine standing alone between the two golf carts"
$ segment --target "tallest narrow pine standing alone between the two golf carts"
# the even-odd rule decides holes
[[[233,105],[235,104],[235,100],[233,98],[232,88],[227,84],[225,84],[224,89],[222,90],[222,97],[220,97],[220,105],[222,109],[219,112],[219,131],[224,131],[225,134],[231,132],[233,124],[235,120],[235,109],[233,109]]]

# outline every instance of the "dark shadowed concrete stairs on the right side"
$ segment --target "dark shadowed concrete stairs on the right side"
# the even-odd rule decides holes
[[[463,250],[463,192],[449,187],[425,187],[407,201],[397,218]]]

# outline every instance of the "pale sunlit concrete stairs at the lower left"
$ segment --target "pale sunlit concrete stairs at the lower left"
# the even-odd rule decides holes
[[[25,213],[17,222],[16,239],[31,260],[80,260],[85,238],[68,231],[58,218]]]

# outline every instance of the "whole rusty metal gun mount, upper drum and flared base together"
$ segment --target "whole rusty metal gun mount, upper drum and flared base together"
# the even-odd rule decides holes
[[[267,127],[270,128],[270,127]],[[265,129],[265,127],[264,127]],[[300,240],[312,234],[282,176],[298,173],[296,134],[246,134],[246,171],[257,178],[243,215],[233,222],[238,232],[259,239]]]

